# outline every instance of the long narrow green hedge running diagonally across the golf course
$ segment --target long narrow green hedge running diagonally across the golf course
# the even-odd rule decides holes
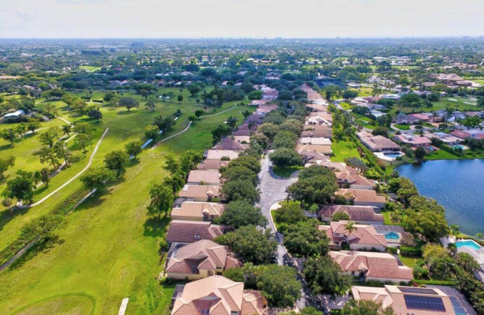
[[[20,235],[11,244],[8,244],[6,248],[0,251],[0,265],[7,262],[13,257],[20,249],[24,248],[31,241],[34,241],[37,237],[42,237],[62,223],[61,216],[65,216],[69,211],[74,208],[77,202],[81,200],[88,190],[81,188],[76,190],[72,195],[67,197],[64,201],[57,204],[52,211],[48,214],[40,216],[20,228]]]

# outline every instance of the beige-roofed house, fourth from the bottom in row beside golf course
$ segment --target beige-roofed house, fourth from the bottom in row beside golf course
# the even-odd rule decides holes
[[[225,206],[216,202],[182,202],[180,207],[171,209],[173,220],[212,221],[221,216]]]

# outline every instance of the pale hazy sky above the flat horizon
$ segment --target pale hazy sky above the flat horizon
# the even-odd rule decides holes
[[[0,38],[483,36],[483,0],[0,0]]]

